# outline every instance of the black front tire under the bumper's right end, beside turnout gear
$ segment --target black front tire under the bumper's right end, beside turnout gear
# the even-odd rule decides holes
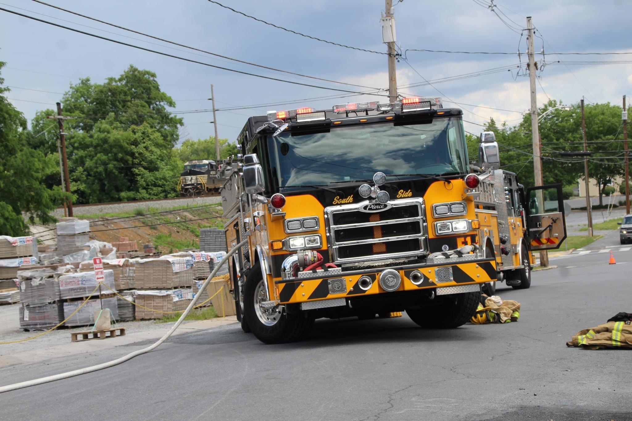
[[[480,291],[446,296],[442,305],[406,309],[413,322],[426,329],[453,329],[463,326],[474,316],[480,303]]]

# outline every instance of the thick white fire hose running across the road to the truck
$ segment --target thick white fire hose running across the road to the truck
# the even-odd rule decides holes
[[[44,384],[44,383],[48,383],[52,381],[58,381],[61,379],[68,379],[69,377],[80,376],[81,374],[87,374],[94,371],[107,369],[109,367],[114,367],[114,365],[118,365],[123,362],[126,362],[127,360],[131,360],[134,357],[137,357],[138,355],[142,355],[143,353],[153,351],[155,348],[159,347],[159,345],[161,345],[164,341],[166,341],[169,338],[169,336],[171,336],[174,333],[174,331],[176,331],[176,329],[178,329],[180,324],[182,324],[182,322],[184,321],[185,317],[189,314],[191,309],[193,309],[198,299],[200,299],[200,297],[202,296],[202,292],[204,292],[207,285],[209,285],[210,280],[215,276],[215,274],[217,273],[217,270],[221,268],[222,264],[225,264],[226,262],[228,262],[229,258],[233,256],[233,254],[236,251],[238,251],[241,247],[245,246],[247,242],[248,242],[248,239],[243,240],[242,242],[234,246],[233,249],[226,254],[226,257],[222,259],[222,261],[219,264],[217,264],[217,266],[215,266],[214,270],[210,273],[209,277],[206,279],[202,287],[200,287],[200,290],[198,291],[198,293],[195,294],[195,297],[193,297],[193,300],[191,301],[189,306],[186,307],[185,312],[183,312],[182,316],[180,316],[178,321],[176,321],[176,324],[174,324],[173,327],[154,344],[150,345],[147,348],[143,348],[142,350],[128,353],[128,355],[125,355],[125,357],[121,357],[119,359],[112,360],[109,362],[104,362],[103,364],[92,365],[92,367],[85,367],[85,369],[73,370],[73,371],[69,371],[69,372],[65,372],[61,374],[54,374],[53,376],[41,377],[40,379],[34,379],[34,380],[29,380],[29,381],[23,381],[20,383],[9,384],[8,386],[1,386],[0,393],[4,393],[11,390],[16,390],[16,389],[28,388],[30,386],[36,386],[37,384]]]

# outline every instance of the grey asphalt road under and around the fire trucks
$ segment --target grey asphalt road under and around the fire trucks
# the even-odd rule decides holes
[[[551,259],[532,288],[499,285],[518,323],[420,329],[408,317],[321,321],[300,343],[263,345],[238,325],[174,336],[104,371],[0,394],[2,420],[632,420],[632,351],[567,348],[583,328],[632,312],[632,251]],[[104,362],[0,370],[1,384]],[[627,412],[627,413],[626,413]]]

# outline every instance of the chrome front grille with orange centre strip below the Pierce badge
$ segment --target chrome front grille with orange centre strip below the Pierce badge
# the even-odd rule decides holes
[[[422,198],[393,200],[379,212],[362,211],[368,203],[325,208],[332,261],[360,263],[427,254]]]

